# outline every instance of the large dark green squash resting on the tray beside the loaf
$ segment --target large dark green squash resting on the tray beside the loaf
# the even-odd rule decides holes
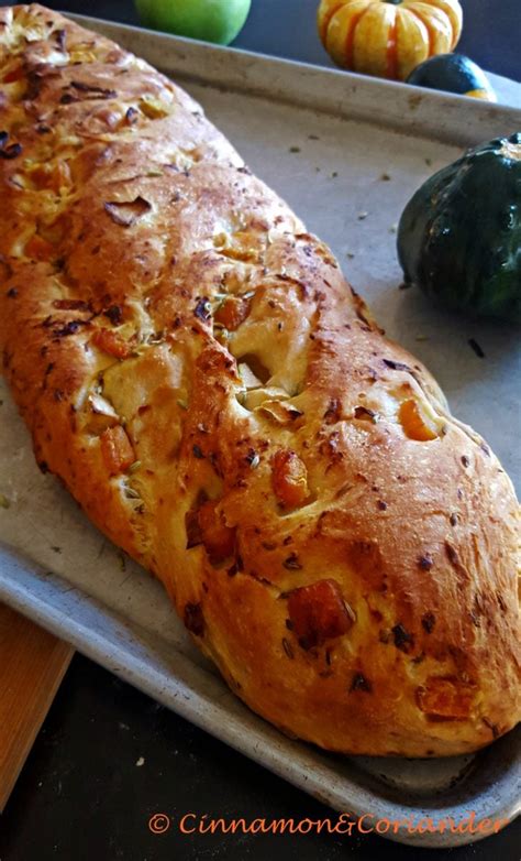
[[[454,309],[521,320],[521,133],[424,183],[398,228],[406,282]]]

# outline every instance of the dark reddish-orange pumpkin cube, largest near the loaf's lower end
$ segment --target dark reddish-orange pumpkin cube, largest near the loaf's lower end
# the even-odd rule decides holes
[[[353,625],[336,580],[318,580],[295,589],[288,597],[292,631],[303,649],[346,634]]]

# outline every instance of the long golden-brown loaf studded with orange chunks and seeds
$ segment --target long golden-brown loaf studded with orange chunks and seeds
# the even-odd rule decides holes
[[[41,468],[282,731],[437,756],[512,728],[486,443],[163,75],[30,6],[0,78],[0,342]]]

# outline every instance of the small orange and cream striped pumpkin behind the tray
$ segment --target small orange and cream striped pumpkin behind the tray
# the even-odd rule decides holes
[[[451,52],[462,23],[458,0],[321,0],[318,12],[322,44],[339,66],[395,80]]]

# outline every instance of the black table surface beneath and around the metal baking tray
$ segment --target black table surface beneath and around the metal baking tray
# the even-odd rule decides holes
[[[461,48],[520,77],[519,0],[463,0]],[[135,23],[130,2],[48,2]],[[328,64],[314,34],[317,0],[254,0],[236,44]],[[517,33],[516,33],[517,29]],[[142,762],[143,760],[143,762]],[[155,813],[267,820],[334,817],[329,808],[77,655],[0,817],[0,861],[519,861],[521,822],[458,850],[406,848],[373,836],[153,835]]]

